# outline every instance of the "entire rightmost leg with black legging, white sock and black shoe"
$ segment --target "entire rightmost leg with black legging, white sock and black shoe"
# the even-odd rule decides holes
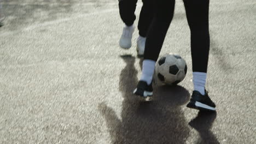
[[[210,50],[209,0],[183,0],[191,33],[191,56],[194,92],[188,107],[216,110],[205,91],[208,56]]]

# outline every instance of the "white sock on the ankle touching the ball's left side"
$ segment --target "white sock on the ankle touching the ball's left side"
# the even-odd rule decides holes
[[[152,82],[155,71],[155,61],[144,59],[142,65],[141,81],[146,81],[148,85]]]

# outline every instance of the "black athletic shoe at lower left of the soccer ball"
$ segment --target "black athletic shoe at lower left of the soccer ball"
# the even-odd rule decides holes
[[[133,91],[133,94],[147,98],[153,95],[152,83],[148,85],[146,81],[139,81],[137,88]]]

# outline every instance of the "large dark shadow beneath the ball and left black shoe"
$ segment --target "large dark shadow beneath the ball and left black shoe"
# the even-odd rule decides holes
[[[154,101],[139,101],[132,94],[138,82],[135,57],[121,58],[126,63],[119,80],[124,98],[121,117],[105,103],[98,106],[112,143],[185,143],[189,128],[181,106],[189,100],[188,91],[181,86],[154,87]]]

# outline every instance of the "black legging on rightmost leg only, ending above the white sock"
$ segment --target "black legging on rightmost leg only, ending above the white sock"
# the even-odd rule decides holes
[[[184,0],[191,32],[193,71],[206,73],[210,50],[209,0]]]

